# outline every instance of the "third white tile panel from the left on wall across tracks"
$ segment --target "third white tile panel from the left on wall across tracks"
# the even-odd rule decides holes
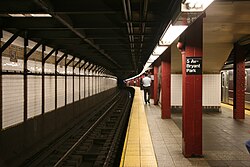
[[[55,109],[55,77],[45,76],[45,112]]]

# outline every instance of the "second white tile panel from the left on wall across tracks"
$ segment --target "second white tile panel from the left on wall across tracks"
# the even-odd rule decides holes
[[[42,114],[42,77],[30,75],[28,78],[28,118]]]

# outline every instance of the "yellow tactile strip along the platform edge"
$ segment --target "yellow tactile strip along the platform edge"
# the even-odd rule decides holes
[[[134,87],[134,89],[135,96],[120,167],[157,167],[141,92],[139,88]]]

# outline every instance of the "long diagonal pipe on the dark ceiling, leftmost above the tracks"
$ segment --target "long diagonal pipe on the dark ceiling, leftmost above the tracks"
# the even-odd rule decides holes
[[[92,46],[94,49],[96,49],[99,53],[101,53],[104,57],[106,57],[108,60],[110,60],[113,64],[115,64],[117,67],[122,68],[115,60],[113,60],[108,54],[104,53],[98,46],[96,46],[94,43],[92,43],[89,39],[87,39],[82,33],[77,31],[72,25],[70,25],[67,21],[65,21],[62,17],[58,16],[55,12],[53,12],[43,0],[34,0],[36,4],[38,4],[42,9],[44,9],[46,12],[48,12],[50,15],[52,15],[54,18],[59,20],[63,25],[65,25],[67,28],[69,28],[73,33],[75,33],[78,37],[80,37],[83,41],[88,43],[90,46]]]

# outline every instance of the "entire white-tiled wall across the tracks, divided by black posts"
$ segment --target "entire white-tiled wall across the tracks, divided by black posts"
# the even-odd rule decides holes
[[[20,41],[20,40],[19,40]],[[14,42],[15,43],[15,42]],[[29,42],[31,44],[32,42]],[[23,61],[23,41],[20,45],[10,45],[2,56],[2,127],[6,129],[24,121],[24,61]],[[28,51],[35,46],[28,46]],[[11,50],[12,49],[12,50]],[[33,118],[42,114],[42,62],[41,62],[41,47],[34,52],[27,61],[27,118]],[[46,49],[45,55],[50,52],[52,48]],[[60,52],[59,52],[60,53]],[[58,53],[58,55],[59,55]],[[62,55],[62,53],[60,53]],[[14,56],[14,59],[13,59]],[[55,55],[52,55],[44,65],[44,112],[52,112],[65,106],[65,98],[67,98],[67,104],[78,102],[80,99],[92,96],[104,90],[116,87],[116,82],[110,79],[106,74],[105,77],[101,77],[93,71],[81,69],[79,66],[83,65],[80,63],[73,71],[73,67],[67,67],[67,88],[65,89],[65,66],[64,62],[68,62],[72,56],[65,58],[57,66],[57,81],[55,80]],[[60,57],[60,56],[59,56]],[[57,60],[59,59],[57,57]],[[79,59],[73,62],[78,62]],[[72,64],[71,64],[72,65]],[[73,82],[73,76],[74,82]],[[79,76],[79,73],[82,76]],[[57,82],[57,87],[55,83]],[[74,89],[73,89],[74,87]],[[57,93],[55,92],[57,90]],[[67,97],[65,97],[65,90],[67,91]],[[80,94],[80,96],[79,96]],[[56,101],[57,98],[57,101]]]

